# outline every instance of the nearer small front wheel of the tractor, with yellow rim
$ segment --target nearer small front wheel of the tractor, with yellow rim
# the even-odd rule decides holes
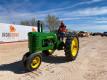
[[[42,57],[40,53],[39,54],[32,53],[27,57],[25,67],[28,71],[36,70],[39,68],[41,61],[42,61]]]

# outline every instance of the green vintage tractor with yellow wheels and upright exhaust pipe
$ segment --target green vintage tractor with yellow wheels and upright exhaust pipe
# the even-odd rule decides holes
[[[28,71],[39,68],[42,54],[52,55],[55,50],[64,50],[66,59],[75,60],[79,50],[79,40],[75,33],[67,33],[66,40],[59,39],[57,33],[43,32],[43,27],[38,21],[38,32],[28,33],[29,52],[23,56],[23,64]]]

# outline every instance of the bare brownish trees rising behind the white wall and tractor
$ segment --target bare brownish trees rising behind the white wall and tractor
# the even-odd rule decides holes
[[[20,24],[26,26],[37,26],[37,21],[38,20],[36,20],[35,18],[32,18],[30,20],[23,20],[20,22]],[[47,25],[50,32],[54,32],[59,28],[60,20],[54,15],[47,15],[45,20],[42,20],[41,23],[43,27]]]

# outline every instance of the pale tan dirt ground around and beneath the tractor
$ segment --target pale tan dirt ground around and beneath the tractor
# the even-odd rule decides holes
[[[107,80],[107,37],[80,38],[75,61],[63,51],[43,58],[37,71],[26,72],[21,62],[27,42],[0,44],[0,80]]]

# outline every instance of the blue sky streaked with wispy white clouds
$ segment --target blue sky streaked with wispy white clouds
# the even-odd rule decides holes
[[[0,23],[55,15],[69,30],[107,31],[107,0],[0,0]]]

